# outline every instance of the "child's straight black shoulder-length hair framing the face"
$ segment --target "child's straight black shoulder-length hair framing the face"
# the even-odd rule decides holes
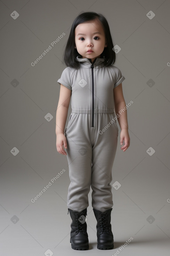
[[[63,55],[64,63],[67,67],[78,68],[80,65],[79,61],[76,60],[76,57],[80,54],[78,53],[77,49],[74,48],[74,46],[75,46],[75,28],[77,27],[77,25],[79,25],[83,22],[92,21],[92,20],[95,20],[96,18],[100,21],[100,23],[104,29],[106,43],[107,43],[107,47],[104,48],[103,52],[100,55],[100,58],[104,58],[104,62],[103,62],[104,66],[107,67],[109,65],[114,65],[114,63],[116,61],[116,54],[112,50],[112,48],[114,46],[113,46],[113,42],[112,42],[110,28],[109,28],[106,18],[100,13],[98,14],[95,12],[84,12],[75,18],[75,20],[73,21],[72,27],[71,27],[70,35],[68,37],[64,55]]]

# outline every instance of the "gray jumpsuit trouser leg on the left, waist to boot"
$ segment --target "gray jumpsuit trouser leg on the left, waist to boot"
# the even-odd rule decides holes
[[[83,119],[83,120],[82,120]],[[88,129],[89,115],[73,114],[66,130],[67,160],[70,185],[68,187],[67,207],[81,212],[89,206],[88,194],[91,185],[92,147]]]

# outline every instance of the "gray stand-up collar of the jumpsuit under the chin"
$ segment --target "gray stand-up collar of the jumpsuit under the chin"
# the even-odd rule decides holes
[[[77,61],[80,62],[80,66],[83,67],[83,68],[90,68],[90,66],[92,65],[91,59],[82,58],[81,55],[78,55],[76,57],[76,59],[77,59]],[[104,66],[103,62],[104,62],[104,58],[96,58],[93,61],[94,68],[102,68]]]

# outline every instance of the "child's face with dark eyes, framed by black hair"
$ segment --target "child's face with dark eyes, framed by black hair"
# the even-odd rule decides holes
[[[79,33],[81,35],[78,35]],[[100,21],[94,20],[77,25],[75,28],[75,45],[82,58],[88,58],[91,61],[100,58],[104,47],[107,47],[105,33]],[[93,52],[87,52],[88,50]]]

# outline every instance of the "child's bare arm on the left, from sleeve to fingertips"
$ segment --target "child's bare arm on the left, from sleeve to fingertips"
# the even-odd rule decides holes
[[[56,147],[57,151],[63,155],[67,155],[64,150],[64,148],[67,148],[67,140],[64,135],[64,129],[67,120],[71,93],[72,91],[66,88],[63,84],[60,85],[60,95],[56,111]]]

